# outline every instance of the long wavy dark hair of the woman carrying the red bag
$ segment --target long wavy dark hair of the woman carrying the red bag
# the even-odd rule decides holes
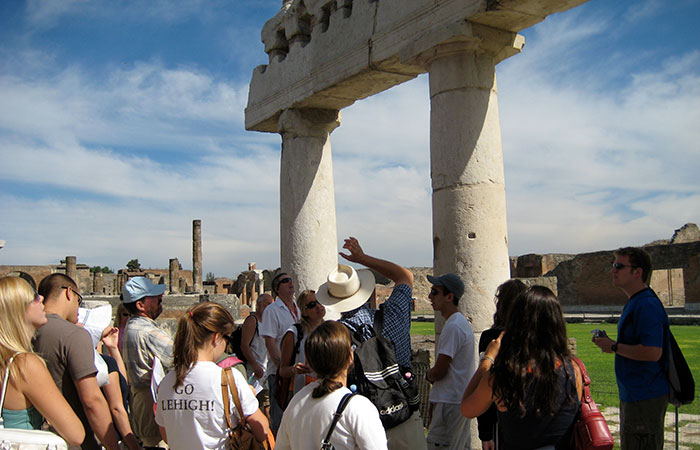
[[[511,307],[501,349],[493,365],[493,393],[508,411],[525,415],[534,408],[539,416],[558,407],[557,366],[571,379],[566,323],[559,300],[544,286],[532,286]],[[526,404],[525,397],[533,399]],[[569,399],[573,401],[573,398]]]

